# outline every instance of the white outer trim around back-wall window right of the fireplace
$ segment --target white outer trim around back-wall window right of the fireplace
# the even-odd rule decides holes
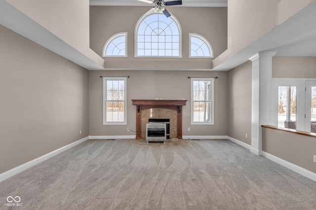
[[[211,81],[211,121],[208,122],[195,122],[193,121],[193,109],[194,109],[194,98],[193,98],[193,82],[197,80],[210,80]],[[214,124],[214,78],[191,78],[191,125],[213,125]]]

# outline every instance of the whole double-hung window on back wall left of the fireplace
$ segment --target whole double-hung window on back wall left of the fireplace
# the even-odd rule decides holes
[[[103,124],[126,125],[126,77],[103,77]]]

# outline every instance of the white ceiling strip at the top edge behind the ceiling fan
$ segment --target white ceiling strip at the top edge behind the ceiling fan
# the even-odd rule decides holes
[[[171,0],[165,0],[171,1]],[[90,0],[94,6],[148,6],[138,0]],[[227,0],[182,0],[182,6],[224,6],[227,7]]]

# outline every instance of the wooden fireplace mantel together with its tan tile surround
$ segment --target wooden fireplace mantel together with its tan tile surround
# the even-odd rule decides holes
[[[168,114],[168,116],[169,115],[173,116],[172,113],[174,113],[174,123],[172,123],[173,128],[171,129],[170,127],[170,136],[171,136],[171,131],[172,131],[174,132],[175,138],[182,139],[182,106],[186,105],[187,100],[132,99],[132,102],[133,102],[133,105],[136,105],[136,139],[146,138],[145,133],[144,135],[142,135],[142,130],[145,132],[146,123],[148,123],[149,120],[143,119],[142,113],[147,112],[150,109],[159,110],[158,112],[162,112],[163,110],[170,110],[171,112],[170,114]],[[156,119],[166,119],[166,117],[167,116],[164,116],[164,117],[158,116],[156,117]],[[143,120],[146,120],[146,122],[142,123]],[[171,118],[170,118],[170,124],[171,124]]]

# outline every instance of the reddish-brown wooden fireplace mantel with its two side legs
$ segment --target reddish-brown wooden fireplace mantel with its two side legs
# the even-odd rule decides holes
[[[182,106],[186,105],[187,100],[132,99],[132,102],[133,105],[136,105],[136,139],[142,138],[142,111],[147,109],[170,109],[176,111],[176,138],[182,139]],[[163,118],[167,117],[164,116]]]

